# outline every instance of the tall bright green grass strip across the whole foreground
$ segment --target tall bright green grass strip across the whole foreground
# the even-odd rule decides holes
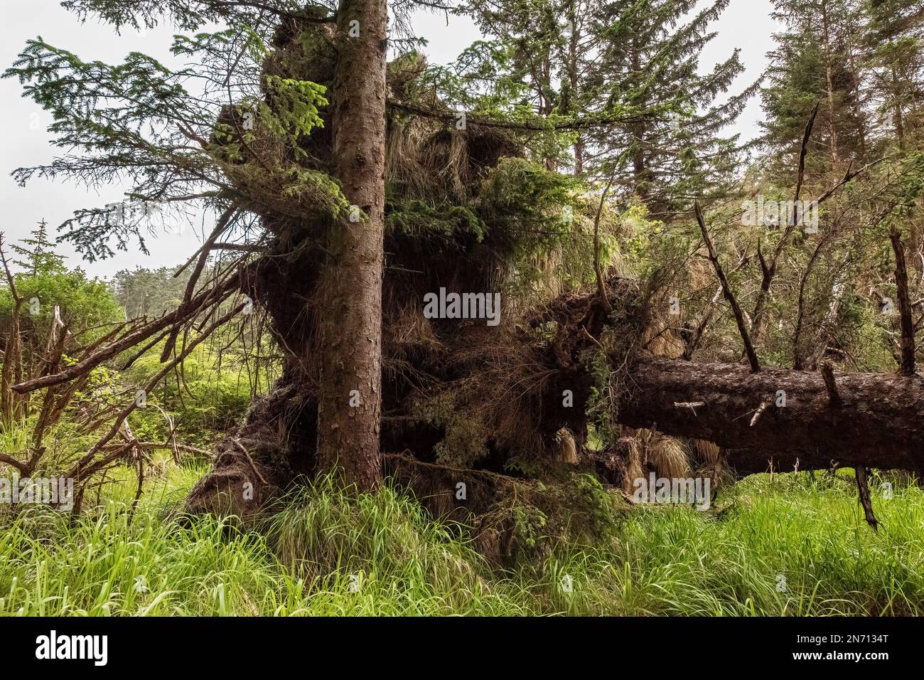
[[[322,483],[247,530],[181,525],[206,469],[164,466],[130,521],[128,471],[76,523],[0,517],[0,615],[924,613],[924,492],[874,497],[874,533],[849,470],[751,476],[710,512],[636,507],[595,545],[502,569],[389,487]]]

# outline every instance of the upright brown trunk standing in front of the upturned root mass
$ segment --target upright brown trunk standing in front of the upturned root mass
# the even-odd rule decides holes
[[[320,307],[318,469],[360,490],[381,477],[382,280],[385,157],[385,0],[343,0],[337,11],[334,176],[359,221],[328,242]]]

